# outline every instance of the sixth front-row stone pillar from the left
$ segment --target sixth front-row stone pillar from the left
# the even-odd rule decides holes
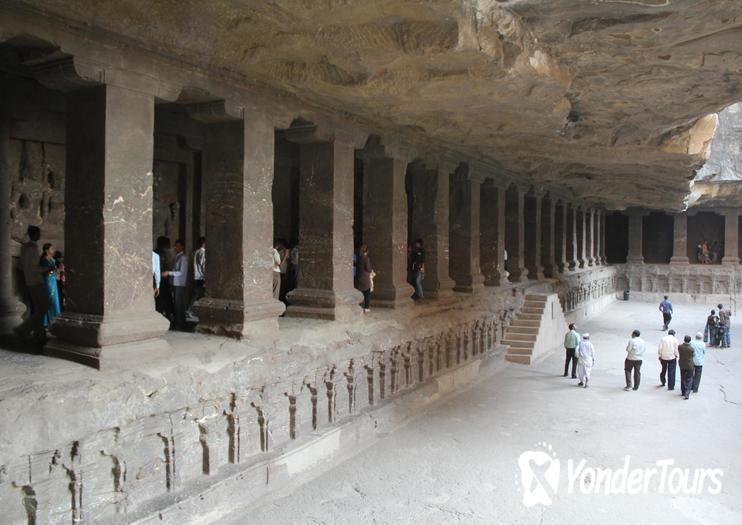
[[[479,268],[480,182],[469,174],[452,176],[451,276],[457,292],[474,293],[484,288]]]

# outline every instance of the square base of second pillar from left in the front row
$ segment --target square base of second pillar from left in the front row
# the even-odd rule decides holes
[[[198,315],[196,330],[252,342],[273,343],[278,339],[278,317],[285,305],[274,299],[262,303],[203,297],[193,306]]]

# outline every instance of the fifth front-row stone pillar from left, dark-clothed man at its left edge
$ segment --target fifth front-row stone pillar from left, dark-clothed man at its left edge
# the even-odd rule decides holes
[[[451,295],[454,282],[448,273],[449,176],[452,168],[412,167],[413,236],[425,248],[425,297]],[[414,239],[413,239],[414,241]]]

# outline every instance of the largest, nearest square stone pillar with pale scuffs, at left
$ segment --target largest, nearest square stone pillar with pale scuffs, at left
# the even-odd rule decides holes
[[[98,368],[169,347],[152,296],[154,96],[96,86],[67,99],[67,310],[45,352]]]

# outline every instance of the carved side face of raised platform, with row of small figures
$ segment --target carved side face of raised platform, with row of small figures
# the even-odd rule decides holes
[[[491,295],[497,299],[490,301],[488,309],[458,307],[451,312],[448,306],[428,313],[431,322],[421,324],[425,331],[399,330],[391,337],[396,340],[387,337],[370,345],[329,345],[317,357],[304,356],[304,365],[296,364],[302,358],[297,347],[295,355],[260,357],[273,359],[265,371],[254,359],[246,359],[216,374],[179,371],[181,375],[168,377],[158,387],[140,385],[143,380],[132,376],[137,383],[129,385],[132,390],[107,392],[110,401],[108,397],[100,404],[90,401],[90,406],[105,411],[103,419],[116,421],[121,417],[117,412],[128,415],[133,409],[127,404],[136,403],[138,415],[133,419],[15,458],[5,457],[7,450],[3,451],[3,521],[127,522],[150,512],[153,500],[158,507],[167,506],[184,497],[194,483],[203,487],[290,450],[292,443],[372,411],[491,353],[522,304],[524,291]],[[284,365],[279,366],[279,361]],[[317,367],[318,363],[325,364]],[[95,376],[90,374],[98,372],[84,373],[94,385]],[[261,374],[272,380],[256,379]],[[214,375],[218,377],[209,377]],[[74,402],[75,396],[82,400],[100,395],[97,388],[101,387],[61,395]],[[134,400],[137,390],[145,394],[143,401]],[[178,400],[185,404],[167,408],[178,406],[174,405]],[[149,415],[143,417],[144,411]],[[54,425],[55,417],[50,414],[46,423]],[[8,439],[15,436],[11,434]],[[50,429],[50,443],[54,436]],[[23,450],[22,443],[15,445]]]

